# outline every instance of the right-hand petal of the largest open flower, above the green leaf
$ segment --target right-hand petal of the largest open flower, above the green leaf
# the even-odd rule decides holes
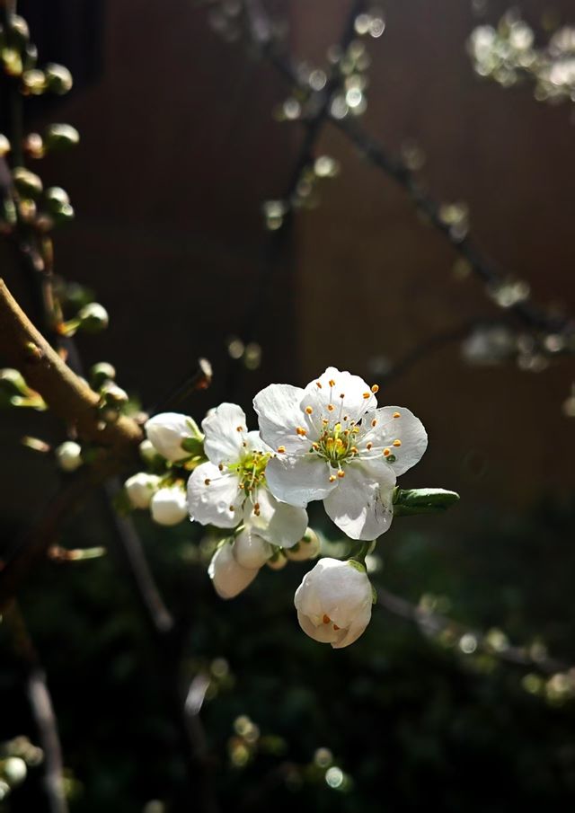
[[[398,416],[394,418],[394,415]],[[374,420],[376,426],[373,427]],[[382,407],[369,415],[369,427],[361,437],[361,447],[368,441],[373,443],[372,454],[381,454],[384,449],[390,450],[388,456],[394,461],[388,465],[397,477],[412,465],[419,463],[428,446],[428,436],[419,418],[405,407]],[[399,441],[399,443],[394,443]],[[392,456],[393,455],[393,456]]]

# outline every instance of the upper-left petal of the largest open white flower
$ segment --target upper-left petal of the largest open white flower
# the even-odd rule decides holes
[[[300,409],[303,395],[300,387],[270,384],[253,399],[261,437],[274,452],[283,447],[287,455],[304,454],[309,449],[310,439],[296,432],[298,427],[308,426],[305,412]]]

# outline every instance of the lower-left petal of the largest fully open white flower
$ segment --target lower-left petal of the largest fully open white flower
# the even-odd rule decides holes
[[[331,474],[330,465],[317,455],[273,457],[266,466],[266,482],[274,497],[301,508],[335,488]]]

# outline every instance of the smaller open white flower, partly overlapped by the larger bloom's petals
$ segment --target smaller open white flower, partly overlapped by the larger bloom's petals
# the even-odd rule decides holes
[[[222,403],[202,421],[208,463],[188,481],[190,517],[201,525],[234,528],[240,523],[266,542],[291,547],[304,535],[303,508],[275,499],[266,485],[271,449],[248,432],[243,410]]]

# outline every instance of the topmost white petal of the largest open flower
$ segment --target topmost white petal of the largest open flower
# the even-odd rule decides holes
[[[320,386],[318,386],[320,384]],[[377,399],[363,378],[328,367],[318,379],[307,384],[302,408],[311,407],[320,419],[358,421],[368,410],[374,410]],[[330,409],[332,407],[332,409]]]

